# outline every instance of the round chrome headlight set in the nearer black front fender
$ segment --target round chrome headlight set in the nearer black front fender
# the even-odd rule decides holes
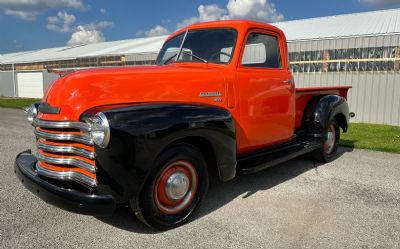
[[[110,125],[104,113],[99,112],[89,119],[90,135],[93,143],[101,148],[106,148],[110,142]]]

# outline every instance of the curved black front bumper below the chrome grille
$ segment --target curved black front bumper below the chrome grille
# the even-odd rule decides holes
[[[116,203],[111,195],[84,194],[55,186],[36,174],[36,162],[32,154],[20,153],[15,159],[15,173],[29,191],[45,202],[79,214],[107,216],[114,213]]]

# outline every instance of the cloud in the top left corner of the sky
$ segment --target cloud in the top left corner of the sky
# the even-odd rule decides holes
[[[0,0],[4,14],[22,20],[35,20],[48,9],[72,8],[84,10],[83,0]]]

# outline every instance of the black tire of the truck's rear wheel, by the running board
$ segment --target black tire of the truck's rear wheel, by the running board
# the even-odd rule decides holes
[[[333,138],[334,141],[331,143],[328,137],[328,132],[334,132]],[[328,122],[327,129],[326,129],[327,138],[325,139],[321,148],[314,150],[311,155],[315,161],[320,163],[327,163],[335,159],[339,147],[339,140],[340,140],[340,127],[335,119],[332,119]],[[327,143],[330,142],[327,149]]]

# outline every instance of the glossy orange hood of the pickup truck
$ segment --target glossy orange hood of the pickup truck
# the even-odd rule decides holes
[[[217,92],[221,94],[218,100],[207,96]],[[58,79],[48,88],[43,102],[59,107],[60,113],[39,113],[38,118],[78,120],[82,113],[93,107],[129,103],[182,102],[222,106],[225,95],[221,69],[208,64],[82,70]]]

